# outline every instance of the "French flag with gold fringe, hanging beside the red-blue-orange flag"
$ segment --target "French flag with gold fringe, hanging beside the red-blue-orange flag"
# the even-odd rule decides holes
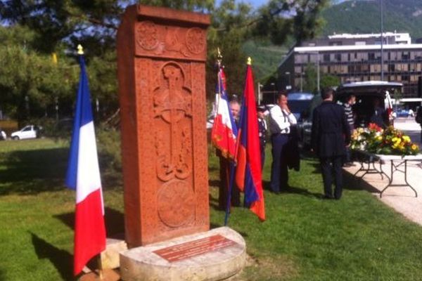
[[[211,130],[212,144],[222,152],[224,157],[234,159],[237,127],[229,108],[229,98],[226,93],[226,76],[221,67],[218,72],[215,108],[216,114]]]

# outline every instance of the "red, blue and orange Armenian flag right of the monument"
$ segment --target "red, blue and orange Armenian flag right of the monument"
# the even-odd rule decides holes
[[[236,184],[245,193],[245,205],[261,221],[265,221],[264,192],[262,190],[262,169],[260,137],[258,135],[257,108],[253,88],[252,68],[246,69],[245,90],[238,131],[236,155]]]

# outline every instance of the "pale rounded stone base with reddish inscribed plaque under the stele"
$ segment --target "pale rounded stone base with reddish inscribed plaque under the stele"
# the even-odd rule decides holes
[[[246,245],[231,228],[177,237],[120,253],[122,280],[224,280],[245,266]]]

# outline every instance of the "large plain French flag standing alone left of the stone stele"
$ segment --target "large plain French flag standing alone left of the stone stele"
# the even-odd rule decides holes
[[[83,55],[79,55],[79,65],[79,90],[65,181],[69,188],[76,190],[75,275],[82,271],[92,257],[106,249],[103,194]]]

